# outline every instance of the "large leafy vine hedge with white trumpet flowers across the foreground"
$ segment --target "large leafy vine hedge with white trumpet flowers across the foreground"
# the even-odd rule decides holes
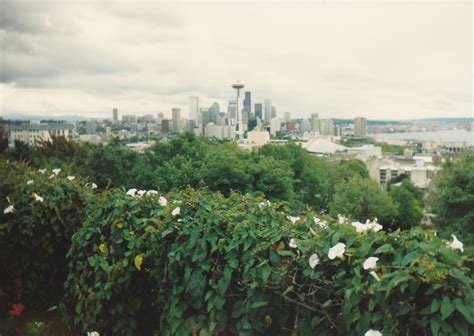
[[[158,196],[106,193],[74,235],[69,299],[84,330],[473,331],[469,258],[432,231],[360,233],[343,218],[323,218],[329,224],[322,228],[309,211],[289,218],[284,204],[236,193],[187,189],[167,198],[162,207]],[[338,243],[344,253],[329,258]],[[364,269],[369,257],[376,265]]]

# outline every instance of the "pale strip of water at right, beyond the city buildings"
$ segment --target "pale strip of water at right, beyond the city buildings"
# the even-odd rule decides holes
[[[466,142],[474,145],[474,132],[466,130],[447,130],[429,132],[402,132],[370,134],[375,139],[432,140],[439,142]]]

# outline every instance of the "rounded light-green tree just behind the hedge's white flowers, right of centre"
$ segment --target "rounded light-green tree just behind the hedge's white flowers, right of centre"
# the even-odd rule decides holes
[[[332,216],[343,214],[358,221],[378,218],[384,225],[391,225],[397,215],[388,194],[376,182],[360,176],[354,176],[336,188],[330,212]]]

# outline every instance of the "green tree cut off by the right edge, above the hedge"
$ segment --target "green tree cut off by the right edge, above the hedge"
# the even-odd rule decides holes
[[[434,224],[440,234],[455,233],[474,244],[474,157],[465,155],[458,162],[447,161],[434,183],[429,198]]]

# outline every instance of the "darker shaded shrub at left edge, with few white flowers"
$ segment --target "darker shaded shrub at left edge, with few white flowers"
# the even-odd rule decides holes
[[[12,300],[56,303],[70,238],[92,192],[81,178],[70,181],[64,173],[40,173],[21,163],[0,161],[0,175],[0,286]]]

